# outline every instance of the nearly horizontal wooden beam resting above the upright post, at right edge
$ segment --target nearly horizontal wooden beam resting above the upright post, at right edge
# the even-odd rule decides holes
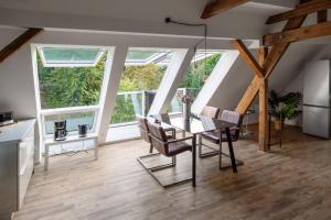
[[[265,35],[264,45],[291,43],[328,35],[331,35],[331,22],[322,22],[310,26]]]

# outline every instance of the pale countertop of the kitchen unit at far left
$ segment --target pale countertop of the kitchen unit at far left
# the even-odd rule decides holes
[[[34,127],[35,119],[22,120],[7,127],[0,127],[0,143],[21,142]]]

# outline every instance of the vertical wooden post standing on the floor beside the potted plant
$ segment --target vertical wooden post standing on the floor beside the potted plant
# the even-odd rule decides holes
[[[261,46],[258,51],[259,64],[263,65],[267,57],[268,48]],[[259,114],[258,114],[258,146],[260,151],[268,150],[268,78],[260,82],[258,90]]]

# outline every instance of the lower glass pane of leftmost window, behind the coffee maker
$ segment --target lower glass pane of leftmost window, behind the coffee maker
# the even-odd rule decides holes
[[[66,120],[66,130],[68,132],[78,131],[78,124],[88,124],[93,129],[95,112],[76,112],[54,116],[45,116],[45,134],[54,134],[54,122]]]

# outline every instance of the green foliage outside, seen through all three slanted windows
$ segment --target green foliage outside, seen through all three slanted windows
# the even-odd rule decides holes
[[[206,62],[202,59],[191,64],[180,87],[201,89],[220,57],[221,54],[215,54],[207,57]],[[106,54],[95,67],[43,67],[38,56],[42,109],[98,105],[105,63]],[[166,69],[167,66],[157,64],[126,66],[119,91],[157,90]],[[141,95],[117,96],[110,123],[135,121],[137,110],[140,108],[141,111]]]

